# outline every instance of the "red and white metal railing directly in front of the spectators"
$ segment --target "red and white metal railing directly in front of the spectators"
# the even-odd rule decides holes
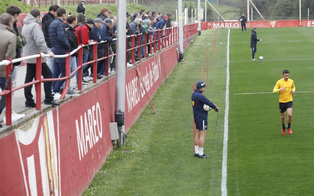
[[[183,31],[183,38],[187,38],[189,36],[192,36],[196,34],[197,31],[197,23],[195,24],[189,24],[184,26],[184,31]],[[165,31],[168,31],[168,35],[165,34]],[[144,47],[144,57],[146,57],[146,46],[147,45],[153,45],[154,44],[154,53],[156,53],[156,44],[158,43],[158,50],[170,47],[171,45],[175,44],[178,42],[178,27],[171,27],[167,29],[162,29],[160,31],[156,31],[157,33],[161,32],[161,38],[159,40],[156,40],[156,34],[154,35],[154,41],[152,40],[152,35],[149,35],[149,42],[147,43],[147,35],[145,34],[144,36],[144,44],[141,44],[141,36],[142,34],[137,35],[138,36],[138,46],[135,47],[135,36],[136,35],[131,35],[126,37],[126,43],[128,41],[128,38],[132,38],[132,48],[127,49],[126,48],[126,53],[128,51],[132,51],[132,63],[135,62],[135,49],[138,48],[138,53],[139,53],[139,58],[141,58],[141,47]],[[163,35],[166,35],[163,37]],[[116,38],[113,39],[113,41],[116,41]],[[97,44],[107,44],[107,50],[105,57],[103,58],[97,58]],[[164,45],[165,44],[165,45]],[[93,59],[91,61],[88,61],[83,64],[83,47],[84,46],[93,46]],[[12,92],[17,91],[19,89],[31,86],[35,84],[35,89],[36,89],[36,109],[41,110],[41,82],[46,82],[46,81],[61,81],[65,80],[65,88],[62,91],[61,94],[61,99],[63,99],[66,95],[66,92],[68,91],[68,86],[70,82],[70,77],[78,71],[78,76],[82,76],[83,74],[83,66],[88,65],[88,64],[93,64],[93,83],[97,83],[97,62],[101,60],[106,60],[106,69],[105,69],[105,76],[108,76],[108,68],[109,68],[109,59],[110,57],[116,56],[116,53],[109,55],[109,45],[106,41],[101,41],[99,43],[97,42],[92,42],[89,45],[82,45],[79,44],[78,48],[73,50],[70,53],[66,53],[63,55],[54,55],[53,58],[65,58],[65,76],[62,78],[41,78],[41,58],[46,57],[50,58],[49,55],[44,54],[44,53],[37,53],[34,55],[22,57],[19,59],[7,59],[3,60],[0,62],[0,66],[6,66],[6,79],[8,80],[8,76],[11,73],[12,70],[12,64],[13,63],[18,63],[21,61],[29,60],[29,59],[36,59],[36,80],[25,83],[21,86],[12,88],[12,83],[9,82],[9,86],[7,90],[3,90],[0,92],[0,96],[6,96],[6,124],[11,125],[12,124],[12,119],[11,119],[11,110],[12,110]],[[72,72],[70,72],[70,58],[71,55],[76,53],[78,51],[78,65],[76,69],[74,69]],[[147,51],[148,53],[152,53],[152,48],[150,48],[150,51]],[[126,56],[126,62],[127,62],[127,56]],[[8,66],[9,65],[9,66]],[[82,77],[78,77],[78,90],[82,90]]]

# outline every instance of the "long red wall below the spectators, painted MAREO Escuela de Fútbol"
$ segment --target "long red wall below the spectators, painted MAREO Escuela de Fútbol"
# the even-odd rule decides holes
[[[191,38],[184,41],[187,48]],[[128,131],[177,64],[178,45],[147,58],[126,72]],[[113,77],[0,138],[0,195],[81,195],[112,150]],[[53,193],[53,194],[51,194]]]

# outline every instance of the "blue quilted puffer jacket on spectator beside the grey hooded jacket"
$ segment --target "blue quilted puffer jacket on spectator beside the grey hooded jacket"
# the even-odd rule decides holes
[[[49,26],[49,40],[52,45],[51,51],[54,54],[71,52],[67,31],[65,30],[61,19],[56,18],[51,22]]]

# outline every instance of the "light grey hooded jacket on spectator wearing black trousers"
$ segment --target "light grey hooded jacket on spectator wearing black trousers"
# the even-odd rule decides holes
[[[22,29],[22,35],[26,38],[26,45],[23,47],[23,56],[34,55],[38,52],[49,54],[50,49],[45,42],[44,33],[40,27],[40,21],[36,20],[31,14],[27,14],[24,19],[24,27]],[[36,63],[36,59],[25,60],[25,63]],[[46,63],[46,58],[41,58],[41,63]]]

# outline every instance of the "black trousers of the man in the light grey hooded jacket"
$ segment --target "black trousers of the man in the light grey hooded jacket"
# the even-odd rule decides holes
[[[46,63],[41,64],[41,75],[44,78],[51,78],[52,73]],[[31,82],[35,79],[36,76],[36,64],[28,63],[26,67],[26,77],[25,83]],[[34,103],[33,95],[32,95],[32,87],[28,86],[24,88],[24,95],[26,98],[25,104],[32,104]],[[51,102],[53,97],[51,95],[51,82],[44,82],[44,91],[45,91],[45,102]],[[41,95],[38,95],[41,96]]]

